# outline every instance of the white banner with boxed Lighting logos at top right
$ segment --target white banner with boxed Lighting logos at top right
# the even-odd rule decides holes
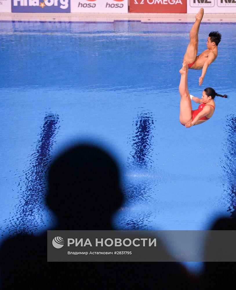
[[[236,13],[236,0],[187,0],[187,13]]]

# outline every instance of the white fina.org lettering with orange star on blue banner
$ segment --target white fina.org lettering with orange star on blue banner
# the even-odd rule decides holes
[[[61,9],[67,9],[69,6],[69,0],[13,0],[13,6],[59,6]]]

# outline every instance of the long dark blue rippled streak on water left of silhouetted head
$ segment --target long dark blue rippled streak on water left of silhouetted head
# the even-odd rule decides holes
[[[14,215],[5,220],[6,231],[15,233],[37,232],[44,224],[44,197],[46,193],[46,172],[51,160],[51,149],[55,143],[55,135],[59,129],[59,116],[48,113],[44,117],[43,126],[36,142],[36,148],[30,160],[29,168],[19,177],[19,202],[15,205]]]

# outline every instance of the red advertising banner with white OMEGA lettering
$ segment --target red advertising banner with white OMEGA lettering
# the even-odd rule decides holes
[[[186,13],[187,0],[130,0],[129,12]]]

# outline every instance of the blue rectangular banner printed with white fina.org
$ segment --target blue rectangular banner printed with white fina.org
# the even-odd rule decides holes
[[[12,12],[70,12],[70,0],[12,0]]]

